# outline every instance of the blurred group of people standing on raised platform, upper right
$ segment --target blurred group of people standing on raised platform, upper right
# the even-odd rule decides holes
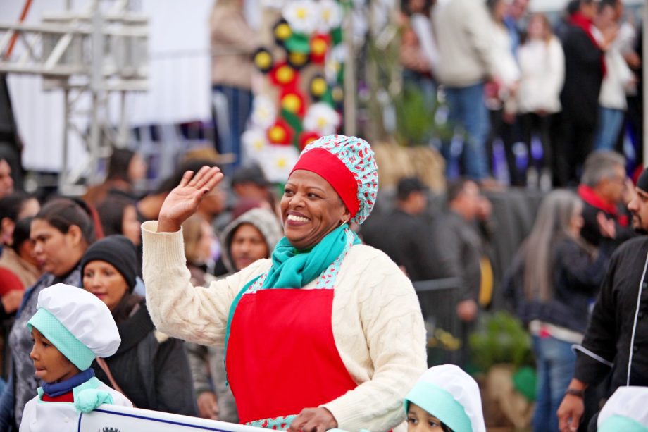
[[[511,185],[573,186],[588,154],[624,152],[627,125],[640,167],[642,38],[623,1],[569,1],[554,25],[528,4],[403,2],[404,81],[438,92],[463,140],[463,159],[442,144],[448,165],[490,183],[501,142]]]

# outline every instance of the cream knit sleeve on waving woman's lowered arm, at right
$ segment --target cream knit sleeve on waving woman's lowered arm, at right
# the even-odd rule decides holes
[[[354,260],[351,280],[357,282],[352,289],[357,291],[358,309],[345,310],[359,312],[366,346],[356,346],[368,349],[370,379],[323,407],[343,430],[388,431],[405,420],[403,399],[427,367],[425,326],[418,297],[404,273],[377,249],[356,248],[362,259],[351,254],[347,259]],[[348,323],[358,317],[345,312],[342,319]]]

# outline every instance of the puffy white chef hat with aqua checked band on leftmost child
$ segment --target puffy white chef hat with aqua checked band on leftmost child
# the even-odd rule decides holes
[[[57,283],[38,295],[38,310],[27,321],[82,371],[94,357],[110,357],[121,343],[110,309],[82,288]]]

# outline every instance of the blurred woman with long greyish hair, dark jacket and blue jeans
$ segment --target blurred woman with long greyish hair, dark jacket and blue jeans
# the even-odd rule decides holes
[[[556,410],[573,376],[571,345],[582,342],[609,252],[580,237],[578,195],[554,190],[506,276],[506,295],[533,338],[538,374],[534,431],[557,431]]]

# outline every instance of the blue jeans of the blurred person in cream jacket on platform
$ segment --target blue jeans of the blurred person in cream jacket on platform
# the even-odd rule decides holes
[[[485,142],[490,130],[488,110],[484,101],[482,82],[468,87],[447,87],[446,100],[449,108],[449,121],[454,127],[466,131],[467,140],[463,144],[463,162],[466,175],[481,180],[488,176]],[[444,152],[445,153],[445,152]],[[448,166],[452,165],[450,152],[444,154]]]

